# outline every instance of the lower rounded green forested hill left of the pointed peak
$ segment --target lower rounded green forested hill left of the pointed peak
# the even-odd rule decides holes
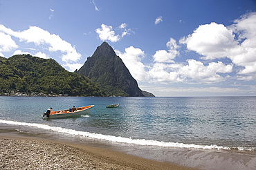
[[[53,59],[31,55],[0,57],[0,93],[68,94],[71,96],[103,96],[87,77],[70,73]]]

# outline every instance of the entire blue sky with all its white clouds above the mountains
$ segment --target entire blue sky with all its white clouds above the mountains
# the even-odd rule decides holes
[[[255,0],[0,0],[0,56],[73,72],[102,42],[157,97],[256,96]]]

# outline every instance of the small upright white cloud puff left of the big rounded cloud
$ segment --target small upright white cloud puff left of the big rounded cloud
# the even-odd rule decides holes
[[[172,59],[179,55],[179,51],[177,50],[179,46],[176,44],[175,39],[170,38],[170,41],[166,44],[168,51],[166,50],[157,50],[154,54],[154,62],[167,62],[174,63]]]

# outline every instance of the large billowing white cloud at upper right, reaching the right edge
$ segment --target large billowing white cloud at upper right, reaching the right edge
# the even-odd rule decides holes
[[[232,26],[210,23],[199,26],[192,35],[180,40],[188,50],[203,55],[201,59],[231,59],[241,66],[239,79],[256,79],[256,12],[250,12],[234,21]]]

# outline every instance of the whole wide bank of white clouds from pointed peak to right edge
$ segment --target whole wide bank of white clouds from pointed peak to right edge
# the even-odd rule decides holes
[[[149,66],[141,62],[145,53],[140,48],[130,46],[125,53],[117,54],[139,82],[214,84],[225,81],[233,73],[237,75],[232,78],[252,81],[256,79],[255,25],[256,12],[241,16],[232,26],[201,25],[179,42],[170,38],[166,44],[168,50],[156,50],[152,56],[154,64]],[[120,27],[125,28],[125,25]],[[179,44],[185,44],[188,50],[198,53],[199,58],[188,57],[185,62],[176,62],[181,49]]]

